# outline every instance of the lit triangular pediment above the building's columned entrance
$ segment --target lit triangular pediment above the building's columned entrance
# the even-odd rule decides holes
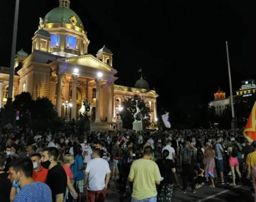
[[[61,59],[58,59],[58,61],[65,61],[65,62],[68,62],[69,64],[82,65],[90,68],[104,70],[107,72],[113,72],[114,74],[117,73],[117,70],[110,67],[109,65],[106,65],[102,61],[98,60],[93,55],[89,55],[89,54],[83,55],[83,56],[77,56],[77,57],[61,58]]]

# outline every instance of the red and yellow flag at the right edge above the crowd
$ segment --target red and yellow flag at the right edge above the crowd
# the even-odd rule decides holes
[[[256,102],[253,105],[252,112],[244,128],[244,137],[249,141],[256,140]]]

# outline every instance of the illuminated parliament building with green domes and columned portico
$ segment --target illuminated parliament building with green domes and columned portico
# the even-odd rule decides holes
[[[32,37],[32,53],[20,50],[16,55],[13,98],[21,92],[31,93],[33,99],[48,97],[59,116],[68,114],[71,118],[78,118],[86,101],[91,105],[91,121],[116,121],[122,101],[139,95],[151,109],[150,121],[155,121],[156,92],[143,78],[134,88],[115,85],[118,77],[111,50],[103,46],[95,56],[89,54],[90,41],[81,19],[69,8],[69,0],[59,3],[40,18]],[[1,107],[7,101],[8,78],[9,68],[0,67]]]

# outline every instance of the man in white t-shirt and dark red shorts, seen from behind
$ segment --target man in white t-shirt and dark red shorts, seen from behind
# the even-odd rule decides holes
[[[100,158],[100,149],[93,151],[93,159],[88,162],[85,169],[84,186],[86,186],[86,201],[104,201],[110,181],[109,163]],[[105,182],[106,178],[106,182]]]

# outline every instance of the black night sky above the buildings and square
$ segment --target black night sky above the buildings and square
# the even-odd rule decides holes
[[[10,62],[14,1],[1,7],[0,66]],[[58,0],[21,0],[17,50],[31,53],[39,17],[58,5]],[[230,94],[226,39],[233,91],[240,80],[256,79],[256,1],[71,0],[70,8],[88,32],[89,53],[104,44],[114,53],[116,84],[133,86],[142,68],[160,108],[207,103],[218,86]]]

